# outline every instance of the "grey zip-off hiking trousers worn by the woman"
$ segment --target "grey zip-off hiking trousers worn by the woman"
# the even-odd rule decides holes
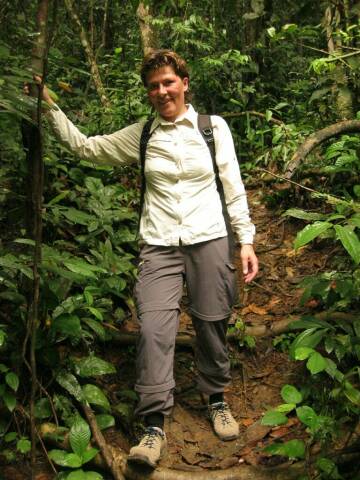
[[[198,388],[210,395],[222,392],[230,381],[226,328],[238,288],[227,237],[178,247],[145,245],[134,292],[140,323],[138,415],[169,415],[174,404],[175,337],[184,281],[197,339]]]

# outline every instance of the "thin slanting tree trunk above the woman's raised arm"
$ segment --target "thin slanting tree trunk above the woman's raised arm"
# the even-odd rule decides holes
[[[85,54],[88,60],[88,63],[90,65],[90,70],[91,70],[91,75],[92,79],[96,88],[96,91],[100,97],[100,101],[103,104],[104,107],[109,107],[110,102],[107,98],[107,95],[105,93],[104,85],[101,80],[99,68],[96,63],[96,58],[94,51],[91,48],[91,45],[89,43],[88,35],[80,21],[80,18],[75,10],[74,4],[72,0],[65,0],[65,6],[67,11],[69,12],[69,15],[71,16],[73,22],[75,23],[76,27],[79,30],[80,34],[80,39],[81,39],[81,45],[84,47]]]

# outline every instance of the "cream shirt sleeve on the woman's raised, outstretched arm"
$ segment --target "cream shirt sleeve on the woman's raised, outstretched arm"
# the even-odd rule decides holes
[[[143,125],[134,123],[110,135],[87,137],[55,106],[46,117],[57,139],[75,155],[102,165],[120,166],[139,160]]]

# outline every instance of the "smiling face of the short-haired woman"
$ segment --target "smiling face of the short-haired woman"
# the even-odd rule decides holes
[[[146,85],[150,103],[165,120],[174,122],[186,112],[187,77],[181,78],[172,67],[164,66],[148,74]]]

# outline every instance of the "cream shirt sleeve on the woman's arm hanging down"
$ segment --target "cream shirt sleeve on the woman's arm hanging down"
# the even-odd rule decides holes
[[[233,138],[225,120],[211,117],[216,146],[216,162],[224,187],[231,226],[241,244],[252,244],[255,226],[251,222],[246,192],[241,179]]]

